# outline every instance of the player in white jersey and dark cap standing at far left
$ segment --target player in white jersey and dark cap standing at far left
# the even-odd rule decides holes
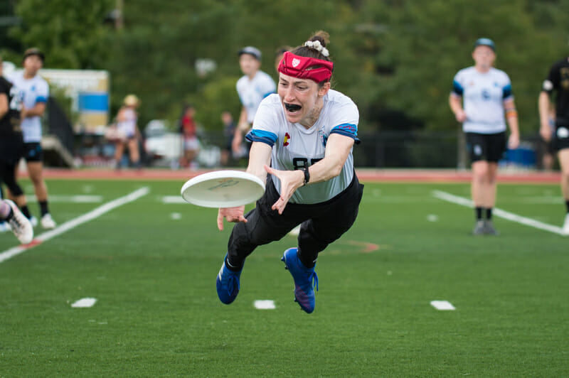
[[[16,73],[11,81],[20,92],[22,100],[21,128],[24,158],[40,205],[41,225],[44,229],[53,229],[55,222],[48,208],[48,188],[43,180],[43,151],[41,149],[41,117],[46,112],[49,97],[48,83],[38,75],[38,71],[43,67],[43,60],[44,55],[41,50],[28,48],[23,54],[23,71]],[[26,210],[23,208],[22,210],[26,214]],[[35,223],[33,217],[32,223]]]

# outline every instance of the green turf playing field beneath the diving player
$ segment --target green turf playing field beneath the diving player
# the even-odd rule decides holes
[[[60,225],[149,193],[0,263],[0,377],[569,375],[569,238],[499,217],[499,237],[470,236],[472,209],[434,195],[469,198],[467,182],[365,182],[356,224],[319,257],[310,315],[280,261],[288,236],[247,260],[235,303],[218,301],[231,227],[179,202],[183,183],[48,178]],[[502,210],[563,222],[556,182],[498,192]],[[0,235],[0,254],[14,246]],[[81,298],[97,302],[72,308]]]

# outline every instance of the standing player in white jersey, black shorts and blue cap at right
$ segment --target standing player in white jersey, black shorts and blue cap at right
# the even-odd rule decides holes
[[[498,161],[506,151],[506,119],[510,127],[508,146],[519,145],[511,82],[506,72],[493,67],[495,50],[494,42],[488,38],[479,38],[474,43],[474,66],[454,76],[449,97],[454,116],[462,122],[472,163],[472,201],[476,213],[472,234],[475,235],[498,233],[491,217],[496,204]]]

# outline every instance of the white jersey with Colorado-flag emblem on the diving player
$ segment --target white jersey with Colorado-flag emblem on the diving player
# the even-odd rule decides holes
[[[320,117],[312,127],[306,129],[301,124],[287,121],[280,97],[275,94],[261,102],[247,139],[272,146],[272,168],[292,171],[311,166],[323,159],[326,141],[330,134],[349,136],[359,143],[358,121],[356,104],[346,95],[329,90],[324,96],[324,107]],[[298,188],[290,198],[290,202],[303,204],[325,202],[346,189],[352,179],[353,155],[350,151],[344,168],[337,177]],[[272,182],[280,193],[280,180],[272,176]]]

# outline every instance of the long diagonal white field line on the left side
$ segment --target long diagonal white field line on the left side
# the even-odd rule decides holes
[[[68,220],[68,222],[62,223],[55,229],[51,229],[50,231],[43,232],[43,234],[39,234],[37,237],[33,239],[30,244],[23,244],[18,247],[13,247],[10,249],[6,249],[4,252],[0,252],[0,263],[14,257],[22,252],[26,252],[28,249],[36,247],[36,245],[41,244],[42,242],[46,242],[53,237],[56,237],[64,232],[68,232],[70,229],[74,229],[80,225],[83,225],[85,222],[89,222],[90,220],[94,220],[97,217],[105,214],[106,212],[110,212],[111,210],[115,209],[116,207],[122,206],[127,204],[128,202],[135,201],[141,198],[144,195],[149,193],[149,188],[140,188],[138,190],[134,190],[134,192],[125,195],[124,197],[117,198],[116,200],[112,200],[110,202],[105,203],[104,205],[100,205],[95,210],[87,212],[75,219]]]

